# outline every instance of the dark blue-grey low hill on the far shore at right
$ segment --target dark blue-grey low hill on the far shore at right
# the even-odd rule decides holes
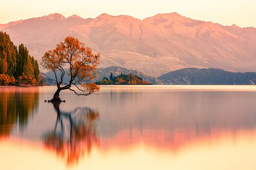
[[[158,77],[173,85],[254,85],[256,72],[229,72],[215,68],[184,68]]]

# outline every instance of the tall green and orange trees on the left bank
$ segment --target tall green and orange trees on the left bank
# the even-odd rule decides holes
[[[0,85],[38,85],[39,66],[24,44],[18,47],[0,32]]]

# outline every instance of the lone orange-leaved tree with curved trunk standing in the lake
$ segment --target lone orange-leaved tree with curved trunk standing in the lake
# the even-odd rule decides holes
[[[99,86],[96,84],[86,83],[97,76],[96,68],[99,65],[99,58],[99,53],[93,55],[91,48],[84,47],[77,38],[70,36],[65,38],[64,42],[57,44],[54,50],[46,52],[42,57],[41,65],[54,72],[57,83],[57,90],[50,102],[62,102],[59,98],[61,90],[69,89],[77,95],[90,95],[99,91]],[[70,79],[68,84],[62,85],[65,75]]]

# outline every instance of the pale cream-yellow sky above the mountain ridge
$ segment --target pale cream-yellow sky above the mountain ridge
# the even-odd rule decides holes
[[[231,26],[256,27],[256,0],[0,0],[0,23],[60,13],[95,18],[102,13],[144,19],[158,13]]]

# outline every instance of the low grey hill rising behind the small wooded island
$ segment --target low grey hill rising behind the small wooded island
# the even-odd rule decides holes
[[[130,70],[130,69],[122,68],[122,67],[119,67],[119,66],[111,66],[111,67],[106,67],[106,68],[97,68],[98,77],[97,77],[97,79],[95,81],[100,81],[100,80],[103,79],[103,77],[109,78],[111,72],[112,72],[113,76],[118,76],[121,73],[125,74],[125,75],[128,75],[128,74],[131,73],[133,75],[141,77],[146,82],[150,82],[152,84],[163,84],[163,82],[161,82],[160,80],[158,80],[158,79],[156,79],[154,77],[145,75],[145,74],[143,74],[140,71]],[[67,69],[66,73],[68,73],[68,69]],[[46,72],[45,75],[47,77],[55,80],[55,76],[54,76],[53,71]],[[57,77],[60,77],[60,72],[59,71],[57,71]],[[64,81],[63,82],[64,84],[67,83],[69,81],[69,76],[65,75],[63,77],[63,81]]]

